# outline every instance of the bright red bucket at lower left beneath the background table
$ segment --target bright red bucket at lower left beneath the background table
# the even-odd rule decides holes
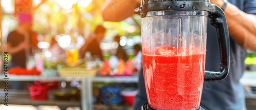
[[[47,100],[48,89],[47,86],[42,85],[30,85],[29,87],[30,97],[33,100]]]

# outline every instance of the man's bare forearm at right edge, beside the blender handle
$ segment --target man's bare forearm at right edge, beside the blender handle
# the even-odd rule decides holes
[[[228,3],[225,9],[229,34],[242,47],[256,51],[256,15]]]

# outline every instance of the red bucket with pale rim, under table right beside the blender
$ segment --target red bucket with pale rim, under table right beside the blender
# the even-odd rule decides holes
[[[125,88],[121,91],[121,95],[123,100],[127,102],[130,106],[133,106],[136,95],[138,94],[138,90],[135,88]]]

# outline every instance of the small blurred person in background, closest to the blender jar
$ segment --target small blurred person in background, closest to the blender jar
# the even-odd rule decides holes
[[[122,48],[122,46],[119,43],[120,36],[119,35],[115,36],[114,41],[118,43],[116,56],[118,57],[118,59],[122,59],[122,60],[124,60],[124,62],[126,62],[128,58],[127,58],[127,54],[126,54],[125,50]]]

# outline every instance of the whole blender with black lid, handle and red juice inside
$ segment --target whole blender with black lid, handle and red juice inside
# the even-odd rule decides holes
[[[142,109],[205,109],[204,81],[229,71],[229,33],[224,12],[209,0],[142,0],[142,66],[148,103]],[[207,20],[218,33],[220,71],[205,71]],[[210,50],[208,50],[210,51]]]

